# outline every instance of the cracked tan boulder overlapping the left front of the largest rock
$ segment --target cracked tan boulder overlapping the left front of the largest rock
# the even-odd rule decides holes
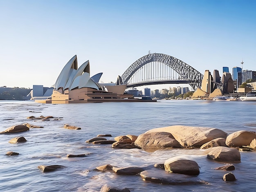
[[[135,141],[135,145],[144,150],[181,148],[180,143],[174,139],[172,134],[167,132],[149,132],[140,134]]]

